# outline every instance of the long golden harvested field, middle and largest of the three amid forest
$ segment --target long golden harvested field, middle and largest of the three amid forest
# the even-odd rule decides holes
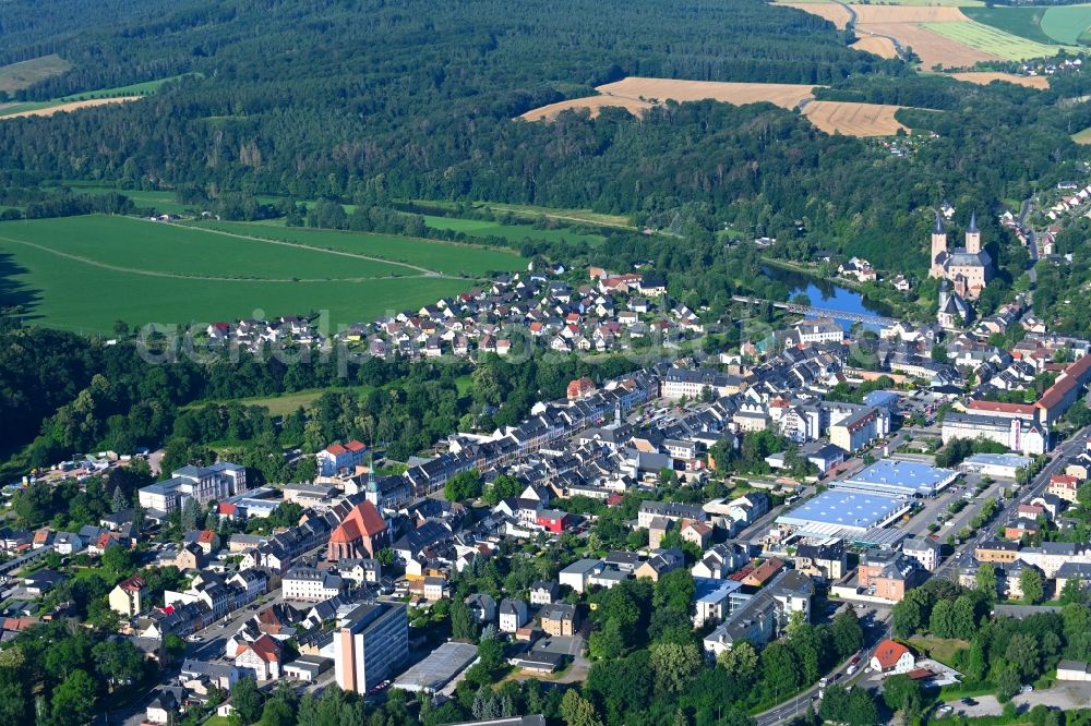
[[[812,98],[815,86],[796,83],[727,83],[720,81],[675,81],[673,78],[627,78],[598,86],[606,96],[633,100],[718,100],[735,106],[769,101],[782,108],[795,108]]]

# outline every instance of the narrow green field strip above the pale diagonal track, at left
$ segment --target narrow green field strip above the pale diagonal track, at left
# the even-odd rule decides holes
[[[526,262],[508,250],[471,244],[457,244],[393,234],[341,232],[337,230],[307,229],[277,225],[247,222],[203,221],[196,227],[220,230],[232,234],[284,240],[312,247],[338,250],[360,255],[382,257],[392,262],[419,265],[444,275],[477,277],[493,270],[526,268]],[[224,235],[226,238],[226,235]],[[227,238],[230,239],[230,238]],[[413,274],[411,270],[403,270]]]

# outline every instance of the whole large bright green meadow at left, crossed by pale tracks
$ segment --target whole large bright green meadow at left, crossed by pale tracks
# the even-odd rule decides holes
[[[376,240],[373,246],[391,254],[397,241]],[[477,247],[415,240],[400,245],[392,256],[407,257],[407,249],[421,247],[413,254],[430,261],[429,269],[446,267],[444,254],[460,254],[459,266],[468,268],[491,264],[478,253],[508,262],[507,269],[524,264],[516,255]],[[130,217],[0,222],[0,270],[14,286],[3,304],[24,304],[28,322],[81,332],[109,334],[118,319],[207,323],[255,311],[274,316],[326,310],[336,326],[416,308],[475,282],[370,256]]]

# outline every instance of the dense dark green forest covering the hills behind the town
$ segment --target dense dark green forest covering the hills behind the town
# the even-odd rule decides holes
[[[1018,202],[1078,168],[1084,153],[1069,134],[1091,125],[1091,105],[1058,104],[1086,93],[1082,75],[1047,92],[919,77],[847,48],[818,17],[758,0],[635,0],[609,13],[591,0],[191,1],[154,21],[111,3],[108,22],[88,17],[96,3],[63,4],[87,33],[71,37],[71,17],[50,24],[33,3],[0,7],[0,27],[20,28],[9,59],[57,50],[74,66],[21,98],[190,75],[140,104],[0,124],[0,173],[208,198],[587,207],[686,238],[730,225],[798,241],[793,258],[835,249],[915,269],[931,207]],[[512,120],[626,75],[822,84],[822,98],[911,107],[903,121],[937,136],[894,156],[771,105],[716,102]]]

